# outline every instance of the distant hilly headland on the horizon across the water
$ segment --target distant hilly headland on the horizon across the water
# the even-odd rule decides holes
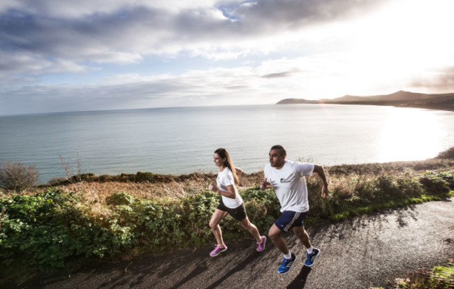
[[[454,111],[454,93],[449,94],[418,94],[409,91],[397,91],[393,94],[378,96],[342,96],[333,99],[309,101],[303,98],[285,98],[276,104],[291,103],[328,103],[356,105],[390,105],[411,108],[428,108],[433,110]]]

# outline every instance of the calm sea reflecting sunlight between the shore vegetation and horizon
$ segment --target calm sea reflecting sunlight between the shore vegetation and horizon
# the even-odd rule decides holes
[[[454,112],[367,105],[251,105],[0,117],[0,162],[35,165],[40,181],[73,172],[216,172],[226,147],[245,172],[289,160],[321,165],[415,161],[454,146]]]

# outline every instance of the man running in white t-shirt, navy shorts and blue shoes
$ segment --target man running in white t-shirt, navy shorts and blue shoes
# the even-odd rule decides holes
[[[273,244],[284,254],[284,260],[277,269],[279,274],[288,272],[296,260],[296,255],[288,250],[287,243],[282,236],[289,229],[293,229],[295,235],[306,247],[306,266],[314,265],[315,258],[320,255],[320,250],[312,246],[304,227],[304,219],[309,212],[305,176],[310,176],[315,172],[323,183],[322,198],[326,198],[328,195],[328,181],[326,181],[325,172],[320,165],[286,161],[286,155],[286,150],[281,145],[274,145],[271,148],[270,163],[265,166],[265,179],[261,182],[262,190],[274,188],[281,204],[282,214],[268,232]]]

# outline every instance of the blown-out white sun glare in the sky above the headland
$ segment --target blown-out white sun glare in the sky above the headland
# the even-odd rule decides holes
[[[336,47],[325,69],[330,87],[361,95],[383,87],[410,89],[413,79],[437,77],[433,71],[454,65],[448,31],[453,10],[454,1],[394,1],[360,19],[318,29]]]

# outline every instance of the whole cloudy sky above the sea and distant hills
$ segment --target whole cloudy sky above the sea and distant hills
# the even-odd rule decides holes
[[[0,114],[454,91],[452,0],[2,0]]]

